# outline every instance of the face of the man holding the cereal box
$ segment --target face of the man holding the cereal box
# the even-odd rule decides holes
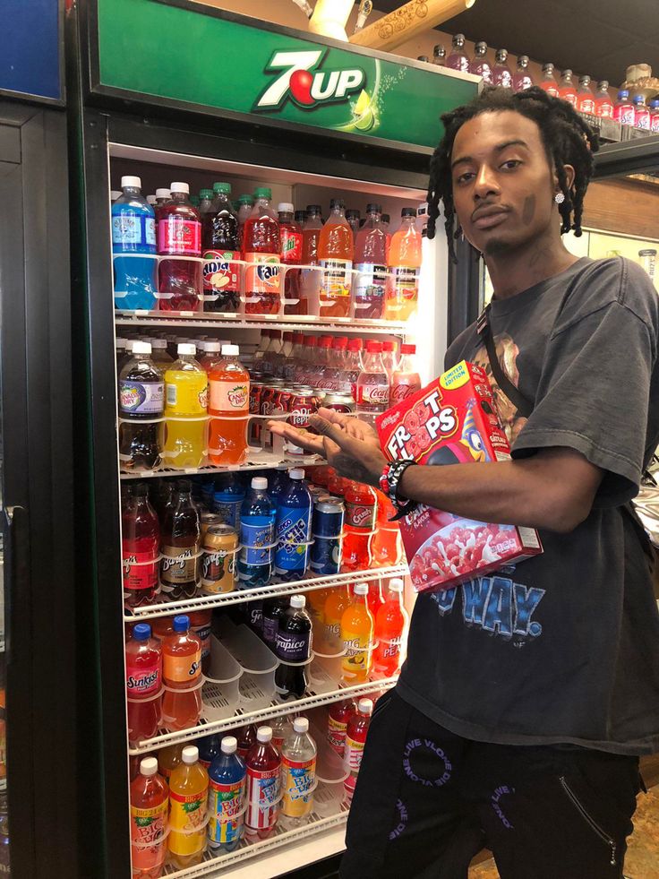
[[[486,256],[517,249],[557,222],[556,180],[535,122],[482,113],[458,130],[453,202],[466,238]]]

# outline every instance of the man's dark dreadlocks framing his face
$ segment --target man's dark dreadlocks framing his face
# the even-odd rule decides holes
[[[435,234],[435,220],[440,215],[440,200],[444,203],[446,237],[449,242],[449,256],[456,262],[454,240],[462,234],[455,220],[453,205],[453,184],[451,178],[450,155],[458,129],[467,120],[482,113],[499,110],[512,110],[531,119],[540,129],[547,159],[555,168],[561,191],[565,196],[559,205],[561,213],[561,235],[574,231],[581,235],[581,217],[584,209],[584,195],[593,174],[593,154],[599,149],[597,134],[578,115],[568,101],[552,98],[546,91],[534,87],[517,93],[508,89],[486,88],[469,104],[458,107],[441,116],[444,136],[432,153],[430,163],[430,182],[428,185],[428,237]],[[574,183],[568,186],[565,165],[575,170]]]

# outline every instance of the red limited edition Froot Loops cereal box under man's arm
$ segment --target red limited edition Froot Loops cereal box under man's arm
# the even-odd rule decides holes
[[[475,464],[510,458],[487,375],[466,360],[379,415],[376,427],[389,461]],[[417,591],[448,589],[543,551],[532,528],[460,519],[424,504],[399,523]]]

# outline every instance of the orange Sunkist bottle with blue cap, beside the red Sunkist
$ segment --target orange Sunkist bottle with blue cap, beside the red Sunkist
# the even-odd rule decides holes
[[[165,694],[162,716],[167,728],[187,729],[201,716],[201,641],[190,632],[187,616],[175,616],[174,632],[162,642],[162,675]],[[195,748],[196,751],[196,748]],[[195,762],[197,754],[195,754]]]

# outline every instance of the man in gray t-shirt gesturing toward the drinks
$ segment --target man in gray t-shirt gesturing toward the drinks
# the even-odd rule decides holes
[[[441,199],[451,253],[462,233],[484,255],[513,460],[412,465],[393,490],[534,526],[544,554],[416,600],[407,663],[372,719],[341,875],[465,879],[486,840],[501,879],[620,879],[638,754],[659,747],[659,616],[625,507],[659,438],[657,297],[635,264],[577,259],[561,243],[581,233],[597,147],[567,103],[485,90],[443,121],[429,236]],[[463,358],[489,366],[475,326],[447,368]],[[371,427],[329,410],[313,426],[319,436],[273,429],[378,485]]]

